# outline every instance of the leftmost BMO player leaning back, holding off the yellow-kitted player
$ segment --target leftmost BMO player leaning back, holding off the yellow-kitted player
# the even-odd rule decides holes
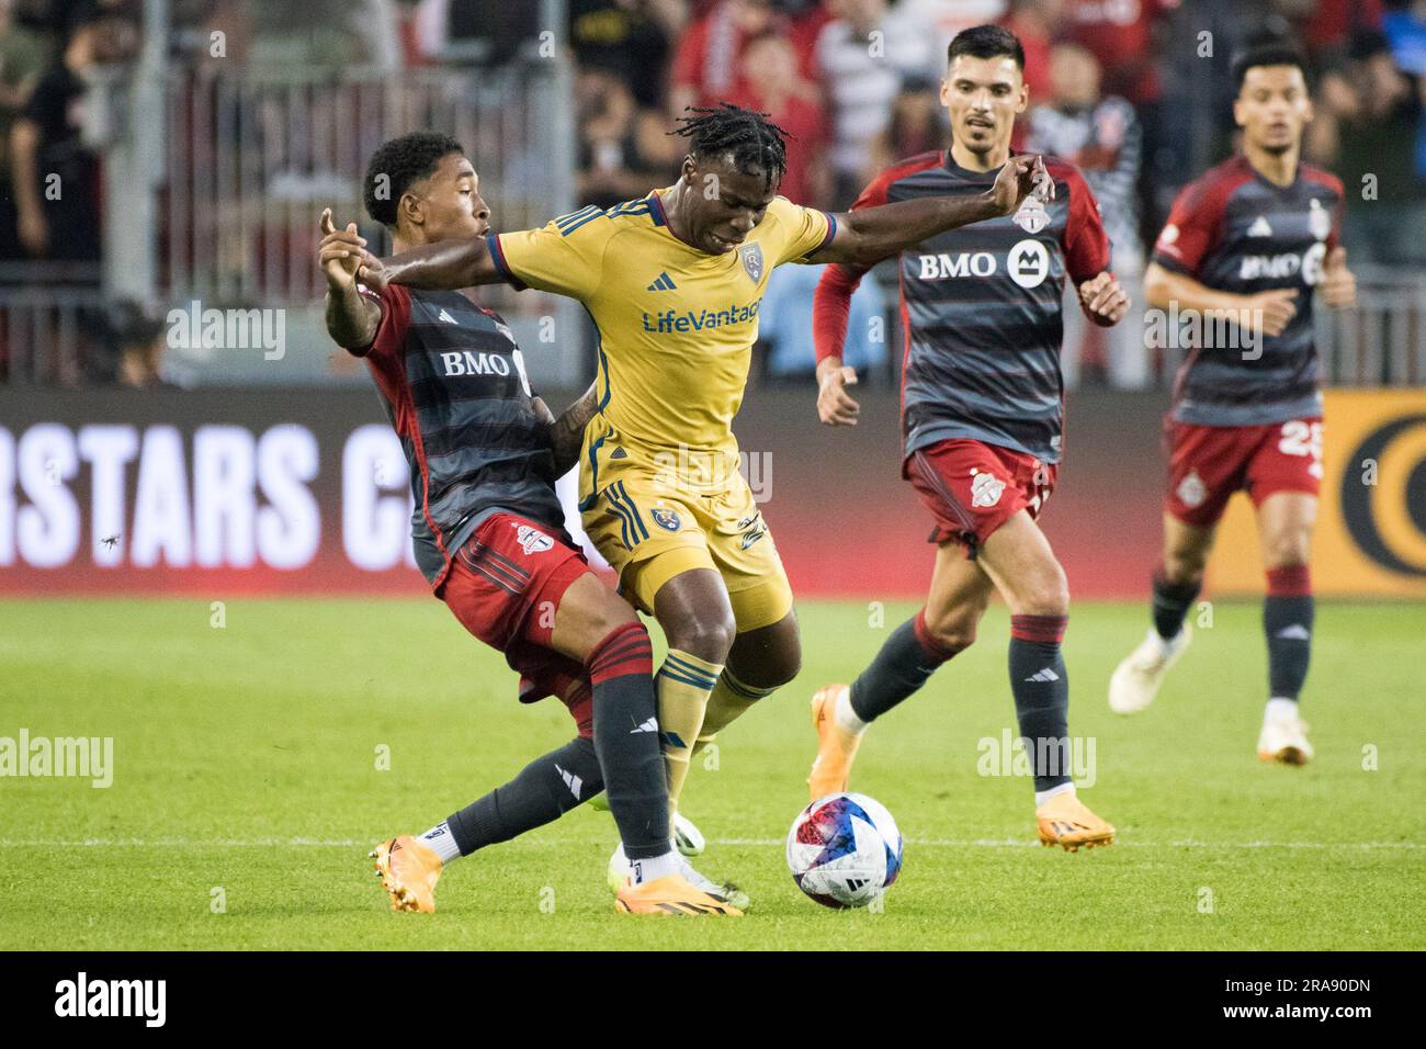
[[[398,251],[482,237],[491,225],[475,168],[448,136],[379,147],[365,197]],[[690,882],[702,876],[670,845],[649,634],[563,528],[555,480],[579,454],[592,397],[555,421],[498,314],[456,291],[372,294],[356,281],[365,241],[355,223],[337,230],[328,210],[321,228],[327,327],[365,358],[401,437],[416,564],[461,624],[530,682],[522,699],[556,694],[579,725],[570,744],[426,833],[378,845],[392,908],[435,911],[445,863],[603,789],[630,858],[620,911],[740,913]]]

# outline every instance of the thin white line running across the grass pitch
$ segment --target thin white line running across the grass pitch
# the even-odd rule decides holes
[[[327,839],[327,838],[251,838],[251,839],[214,839],[201,841],[193,838],[83,838],[74,841],[58,841],[58,839],[44,839],[44,838],[0,838],[0,848],[27,848],[27,849],[270,849],[270,848],[319,848],[319,849],[355,849],[355,848],[371,848],[376,842],[375,838],[355,841],[355,839]],[[548,841],[542,839],[542,845],[562,845],[562,846],[576,846],[588,845],[588,842],[572,842],[572,841]],[[908,838],[907,845],[911,848],[931,848],[931,849],[1018,849],[1018,848],[1034,848],[1038,846],[1037,841],[1027,841],[1022,838],[971,838],[971,839],[950,839],[950,838]],[[709,839],[709,845],[754,845],[754,846],[774,846],[783,845],[781,838],[714,838]],[[1119,841],[1115,842],[1118,848],[1141,848],[1141,849],[1422,849],[1426,848],[1426,842],[1199,842],[1199,841],[1174,841],[1174,842],[1144,842],[1144,841]]]

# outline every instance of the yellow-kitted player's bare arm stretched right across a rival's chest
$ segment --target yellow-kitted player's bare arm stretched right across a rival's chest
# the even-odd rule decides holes
[[[838,214],[831,243],[807,261],[873,265],[938,233],[1014,214],[1037,186],[1047,200],[1054,197],[1044,157],[1011,157],[995,184],[973,197],[921,197]]]

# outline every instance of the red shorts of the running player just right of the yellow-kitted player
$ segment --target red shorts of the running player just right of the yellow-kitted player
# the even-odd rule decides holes
[[[931,542],[960,542],[974,557],[1021,510],[1040,517],[1060,468],[1027,452],[957,437],[911,452],[904,471],[935,518]]]

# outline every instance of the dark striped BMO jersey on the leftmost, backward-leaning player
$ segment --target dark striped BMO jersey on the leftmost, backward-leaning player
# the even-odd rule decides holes
[[[411,467],[421,572],[439,587],[455,551],[496,512],[562,537],[549,430],[535,414],[525,361],[501,315],[458,291],[392,284],[379,301],[381,327],[358,355]]]

